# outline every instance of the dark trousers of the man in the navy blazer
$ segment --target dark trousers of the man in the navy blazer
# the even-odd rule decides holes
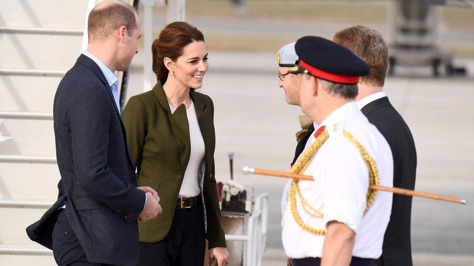
[[[88,262],[85,252],[72,231],[64,209],[59,211],[52,230],[52,253],[60,266],[107,266],[107,264]]]

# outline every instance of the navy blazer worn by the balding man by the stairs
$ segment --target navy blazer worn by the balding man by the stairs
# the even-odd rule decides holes
[[[59,83],[53,116],[59,194],[67,198],[64,211],[87,259],[135,265],[137,217],[145,194],[136,188],[125,128],[107,80],[85,55]],[[43,222],[51,224],[55,219]]]

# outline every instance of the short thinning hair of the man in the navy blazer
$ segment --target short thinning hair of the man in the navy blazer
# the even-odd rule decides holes
[[[127,27],[129,36],[136,28],[135,9],[126,3],[114,1],[98,4],[89,14],[87,32],[89,40],[106,41],[113,31]]]

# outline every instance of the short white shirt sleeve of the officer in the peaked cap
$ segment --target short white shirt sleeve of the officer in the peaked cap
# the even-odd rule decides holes
[[[357,233],[367,202],[369,169],[354,143],[342,136],[332,138],[325,151],[324,224],[339,221]]]

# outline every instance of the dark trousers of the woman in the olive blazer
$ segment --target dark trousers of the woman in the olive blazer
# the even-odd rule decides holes
[[[203,266],[205,255],[202,202],[176,208],[168,235],[156,243],[140,242],[137,266]]]

